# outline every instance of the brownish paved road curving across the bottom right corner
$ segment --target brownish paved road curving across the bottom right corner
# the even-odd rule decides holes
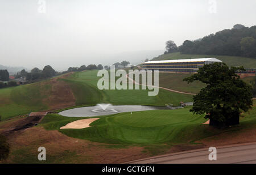
[[[208,148],[171,153],[147,159],[135,160],[129,164],[231,164],[256,163],[256,142],[235,144],[217,148],[217,160],[209,160]]]

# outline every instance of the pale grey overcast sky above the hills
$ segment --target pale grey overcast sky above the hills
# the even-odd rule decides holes
[[[106,65],[123,52],[164,50],[167,40],[251,27],[255,9],[255,0],[0,0],[0,65]]]

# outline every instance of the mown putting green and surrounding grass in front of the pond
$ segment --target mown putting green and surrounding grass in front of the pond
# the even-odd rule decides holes
[[[242,128],[255,126],[256,101],[253,109],[241,115]],[[112,144],[185,144],[216,135],[223,130],[202,125],[204,115],[189,112],[190,107],[175,110],[148,110],[119,113],[98,117],[64,117],[48,114],[39,126],[46,130],[59,130],[73,138]],[[70,122],[85,118],[100,118],[84,129],[61,129]],[[232,127],[225,131],[239,131]]]

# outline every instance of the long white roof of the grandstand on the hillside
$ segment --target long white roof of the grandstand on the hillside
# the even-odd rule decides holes
[[[144,63],[174,63],[174,62],[201,62],[201,61],[222,62],[220,59],[216,59],[216,58],[194,58],[194,59],[172,59],[172,60],[161,60],[161,61],[147,61]]]

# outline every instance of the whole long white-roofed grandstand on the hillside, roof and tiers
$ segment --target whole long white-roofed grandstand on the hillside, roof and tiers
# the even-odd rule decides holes
[[[214,62],[222,62],[216,58],[172,59],[147,61],[143,63],[144,70],[159,70],[162,72],[197,72],[199,67]]]

